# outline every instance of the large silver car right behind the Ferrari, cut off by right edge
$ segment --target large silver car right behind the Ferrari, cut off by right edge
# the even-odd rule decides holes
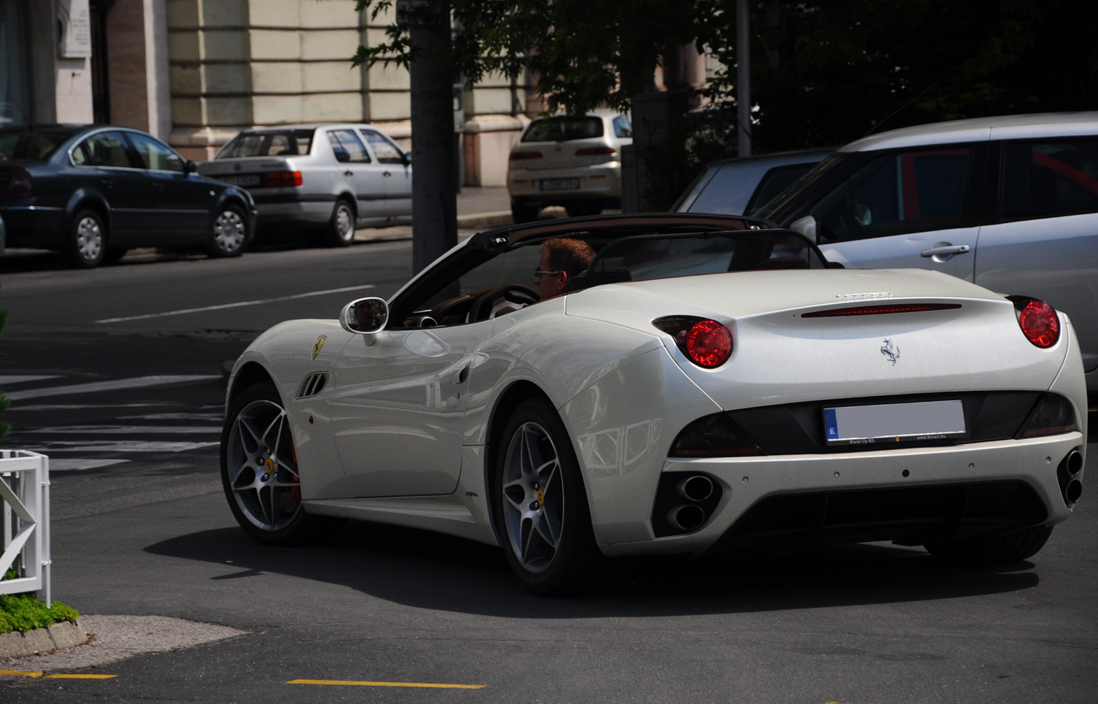
[[[755,216],[847,267],[933,269],[1046,301],[1072,319],[1098,403],[1098,112],[883,132],[841,147]]]

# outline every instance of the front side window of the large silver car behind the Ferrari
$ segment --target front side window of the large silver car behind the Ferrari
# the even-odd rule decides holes
[[[956,227],[971,157],[966,146],[884,154],[808,212],[825,242]]]

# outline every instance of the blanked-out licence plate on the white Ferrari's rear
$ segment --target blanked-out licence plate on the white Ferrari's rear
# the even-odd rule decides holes
[[[931,440],[965,434],[961,401],[882,403],[824,409],[829,445]]]

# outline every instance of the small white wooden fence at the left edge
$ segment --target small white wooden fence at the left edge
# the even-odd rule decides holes
[[[3,554],[0,594],[38,593],[49,605],[49,458],[26,450],[0,450]]]

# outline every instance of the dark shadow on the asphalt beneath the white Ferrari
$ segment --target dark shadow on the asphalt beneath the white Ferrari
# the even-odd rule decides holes
[[[921,549],[863,544],[783,557],[647,559],[635,566],[628,583],[610,592],[544,599],[522,589],[498,548],[363,522],[351,522],[324,545],[276,548],[223,528],[157,543],[146,551],[224,563],[214,580],[285,574],[408,606],[527,618],[820,608],[996,594],[1039,582],[1030,562],[950,568]]]

